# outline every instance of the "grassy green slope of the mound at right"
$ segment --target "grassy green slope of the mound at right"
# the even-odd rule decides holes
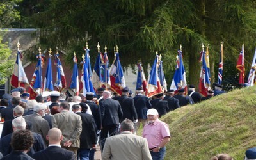
[[[243,159],[256,146],[256,87],[234,90],[164,115],[172,138],[165,159]]]

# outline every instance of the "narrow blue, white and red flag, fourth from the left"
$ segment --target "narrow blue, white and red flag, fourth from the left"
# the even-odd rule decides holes
[[[58,88],[59,92],[61,92],[67,86],[66,77],[64,74],[63,67],[61,65],[61,61],[59,58],[59,53],[56,52],[55,54],[55,65],[57,66],[56,72],[56,88]]]

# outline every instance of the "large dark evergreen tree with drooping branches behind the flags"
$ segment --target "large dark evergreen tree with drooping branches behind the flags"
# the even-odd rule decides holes
[[[188,81],[198,85],[202,43],[210,44],[214,76],[220,42],[225,44],[225,59],[234,64],[242,43],[248,53],[255,47],[255,12],[255,1],[248,0],[49,0],[44,10],[28,17],[26,22],[40,28],[41,45],[68,51],[68,61],[74,51],[81,58],[81,46],[86,40],[92,59],[96,56],[92,53],[97,52],[97,42],[102,48],[105,44],[109,47],[110,58],[113,46],[118,44],[124,67],[135,64],[139,58],[144,65],[151,64],[158,51],[163,56],[168,83],[172,81],[175,56],[182,44]],[[246,58],[252,58],[252,54]],[[250,66],[250,60],[246,65]]]

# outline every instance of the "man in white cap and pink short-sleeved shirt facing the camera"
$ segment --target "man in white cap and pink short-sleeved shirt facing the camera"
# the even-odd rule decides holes
[[[148,124],[143,128],[142,136],[147,139],[150,154],[153,160],[163,160],[166,152],[165,145],[170,141],[168,124],[158,119],[156,109],[148,109]]]

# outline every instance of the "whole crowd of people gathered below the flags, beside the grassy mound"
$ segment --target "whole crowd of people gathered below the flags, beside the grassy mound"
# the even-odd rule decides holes
[[[187,95],[184,89],[176,95],[168,90],[152,99],[140,87],[134,96],[128,87],[122,89],[122,95],[113,95],[105,88],[86,95],[45,91],[35,100],[29,99],[25,88],[15,88],[0,101],[0,152],[3,159],[92,160],[99,144],[102,159],[161,160],[171,135],[168,124],[159,117],[224,93],[221,88],[215,84],[204,97],[190,85]],[[136,135],[140,125],[142,136]]]

